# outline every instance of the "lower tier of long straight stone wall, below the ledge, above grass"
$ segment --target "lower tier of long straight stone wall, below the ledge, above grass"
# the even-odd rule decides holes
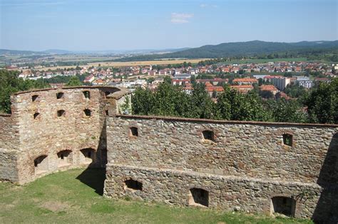
[[[124,181],[129,179],[140,181],[142,190],[134,191],[126,188]],[[320,186],[313,183],[266,181],[239,176],[111,164],[107,168],[104,195],[108,198],[129,197],[190,206],[192,188],[208,191],[209,208],[266,215],[271,212],[273,197],[292,197],[296,201],[295,217],[297,218],[312,217],[322,191]],[[328,204],[332,203],[332,200],[334,198],[325,198]],[[316,219],[328,218],[327,215],[328,213],[322,213]]]

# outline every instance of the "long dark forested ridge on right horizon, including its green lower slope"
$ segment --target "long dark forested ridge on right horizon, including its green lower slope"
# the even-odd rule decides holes
[[[161,58],[309,58],[338,61],[338,41],[278,43],[248,41],[220,43],[180,50],[162,55],[139,55],[116,61],[155,60]]]

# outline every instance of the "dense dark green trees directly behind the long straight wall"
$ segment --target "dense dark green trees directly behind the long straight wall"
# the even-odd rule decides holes
[[[191,94],[164,82],[158,90],[138,88],[132,97],[134,114],[206,119],[269,122],[338,123],[338,80],[322,83],[299,97],[301,100],[267,97],[256,90],[241,94],[224,86],[212,102],[203,84],[195,84]],[[292,90],[290,90],[292,92]],[[290,93],[299,95],[297,91]]]

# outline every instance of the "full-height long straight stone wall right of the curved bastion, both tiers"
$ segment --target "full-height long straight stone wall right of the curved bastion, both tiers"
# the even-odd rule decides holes
[[[337,131],[327,124],[109,117],[105,195],[188,205],[189,189],[201,188],[209,207],[260,213],[282,196],[286,202],[277,203],[295,201],[291,215],[324,220],[337,208],[330,206],[338,200]],[[142,190],[126,187],[128,179]]]

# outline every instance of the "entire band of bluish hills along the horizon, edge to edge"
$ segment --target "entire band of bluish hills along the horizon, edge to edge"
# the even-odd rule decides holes
[[[6,50],[0,49],[0,55],[63,55],[91,54],[125,56],[118,61],[154,60],[161,58],[227,58],[235,56],[267,55],[270,53],[293,53],[293,55],[314,55],[316,53],[338,54],[338,41],[301,41],[297,43],[280,43],[265,41],[247,41],[206,45],[200,48],[170,48],[163,50]],[[334,60],[332,60],[334,61]]]

